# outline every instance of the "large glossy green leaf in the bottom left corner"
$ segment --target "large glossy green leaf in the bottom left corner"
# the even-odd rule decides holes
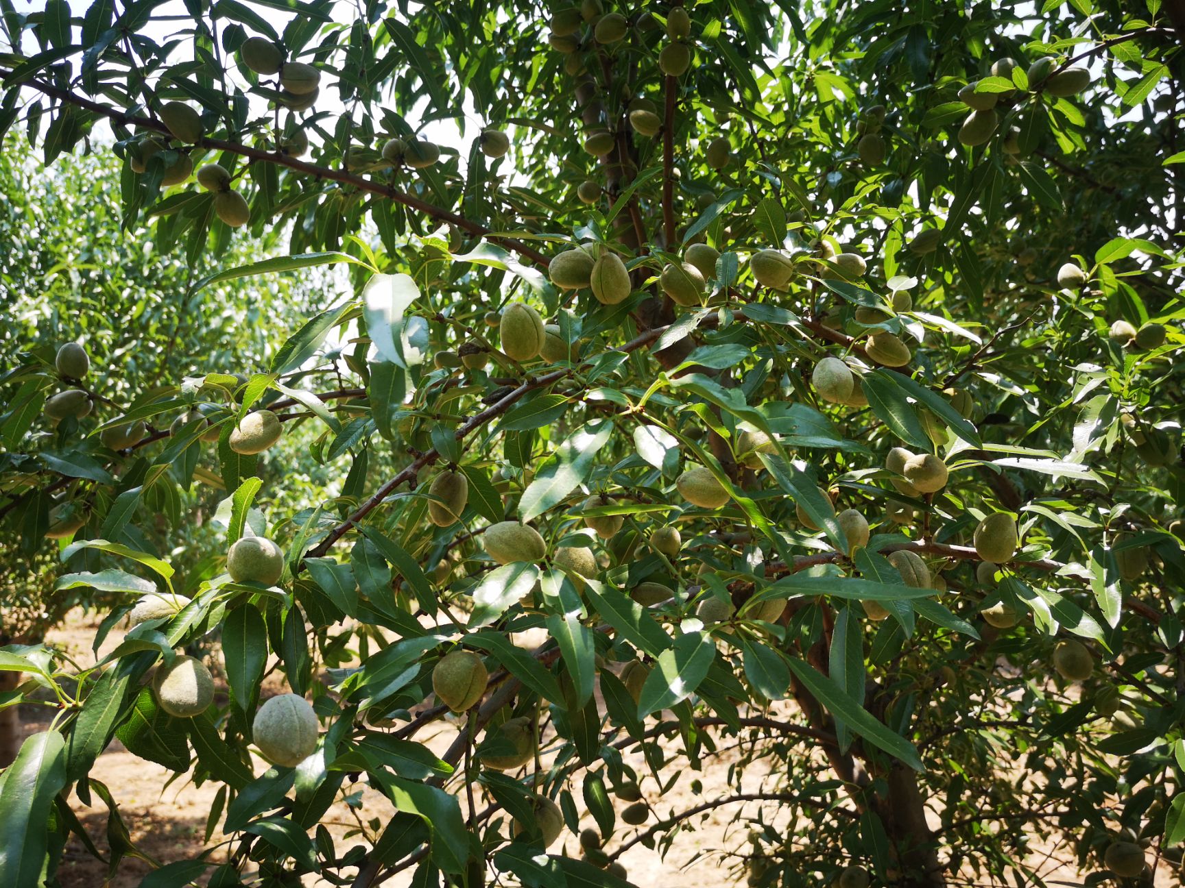
[[[57,731],[25,739],[0,784],[0,884],[36,888],[49,852],[49,817],[66,785],[65,740]]]

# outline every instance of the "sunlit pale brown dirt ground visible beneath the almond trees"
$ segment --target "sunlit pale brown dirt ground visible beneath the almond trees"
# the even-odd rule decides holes
[[[51,633],[47,641],[65,650],[79,664],[90,664],[95,661],[90,644],[100,619],[101,617],[92,614],[71,613],[65,624]],[[121,639],[122,632],[113,631],[100,650],[100,657],[114,649]],[[283,690],[287,688],[276,681],[275,687],[265,686],[263,694],[268,696]],[[52,715],[51,709],[40,710],[33,707],[21,707],[21,709],[25,733],[34,733],[47,727]],[[437,722],[434,728],[433,733],[425,732],[424,735],[416,739],[440,754],[456,736],[457,726],[455,722],[444,721]],[[748,766],[739,786],[731,784],[729,781],[729,765],[737,758],[736,749],[722,751],[722,754],[713,759],[710,765],[705,762],[702,771],[686,771],[683,779],[660,799],[654,798],[653,780],[647,780],[642,789],[661,816],[666,816],[671,810],[685,810],[704,800],[737,792],[776,791],[776,778],[769,773],[763,762]],[[626,755],[626,761],[633,765],[640,774],[645,773],[640,755]],[[256,774],[263,773],[267,768],[262,759],[257,760],[256,765]],[[196,857],[204,848],[209,847],[205,843],[206,818],[220,784],[207,783],[203,786],[194,786],[192,783],[175,781],[166,786],[168,779],[174,777],[173,772],[133,755],[118,741],[114,741],[98,758],[91,770],[91,777],[111,789],[124,822],[132,831],[132,841],[149,856],[162,863],[169,863]],[[702,784],[698,792],[693,792],[693,783],[696,781]],[[382,824],[385,824],[393,811],[391,804],[380,793],[367,787],[364,781],[354,785],[346,784],[342,794],[345,793],[350,794],[352,805],[339,799],[322,819],[334,838],[338,854],[342,854],[354,844],[365,844],[358,835],[360,823],[369,824],[377,818]],[[87,807],[77,797],[71,797],[72,807],[79,821],[95,844],[105,854],[107,809],[97,797],[94,802],[94,806]],[[479,807],[481,807],[480,803]],[[749,826],[747,819],[737,821],[742,811],[749,817],[755,817],[761,811],[764,822],[775,825],[784,823],[788,813],[780,811],[776,803],[749,802],[743,806],[718,807],[702,817],[692,818],[687,821],[687,825],[692,829],[677,835],[665,860],[656,851],[641,844],[630,848],[621,857],[621,862],[629,873],[629,881],[638,886],[660,888],[684,884],[692,879],[697,888],[731,888],[743,884],[744,875],[738,876],[737,870],[732,869],[730,862],[719,854],[722,848],[735,849],[744,844]],[[584,815],[584,821],[587,823],[582,822],[582,826],[595,825],[587,815]],[[933,821],[937,824],[936,815],[933,816]],[[619,819],[617,832],[614,837],[615,844],[623,842],[629,836],[629,829],[623,826]],[[216,832],[211,844],[218,843],[223,838],[220,832]],[[579,855],[576,836],[565,830],[562,842],[568,854]],[[561,848],[561,843],[557,842],[549,850],[552,854],[558,854]],[[1036,864],[1045,856],[1044,849],[1035,848],[1030,863]],[[212,860],[224,861],[225,850],[219,849]],[[1162,871],[1164,866],[1160,869]],[[111,888],[135,888],[149,871],[152,871],[152,867],[148,863],[135,858],[124,858],[115,877],[107,884]],[[1077,886],[1082,883],[1081,876],[1072,869],[1057,867],[1056,862],[1046,862],[1039,867],[1039,871],[1049,884]],[[58,875],[64,888],[96,888],[104,884],[107,864],[95,860],[79,841],[71,839],[66,845],[65,858]],[[409,871],[384,884],[392,886],[392,888],[404,888],[410,882],[411,873]],[[307,876],[305,884],[327,886],[329,883],[314,876]],[[1171,882],[1167,875],[1162,875],[1157,879],[1155,884],[1170,886],[1174,882]]]

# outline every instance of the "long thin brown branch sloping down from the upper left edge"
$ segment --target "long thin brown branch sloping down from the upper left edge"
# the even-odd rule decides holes
[[[12,75],[12,71],[0,67],[0,77],[8,77],[9,75]],[[168,128],[160,121],[152,120],[150,117],[141,117],[139,115],[127,114],[124,111],[109,108],[104,104],[100,104],[98,102],[92,102],[89,98],[84,98],[73,92],[70,92],[69,90],[59,89],[57,86],[53,86],[49,83],[44,83],[38,79],[30,78],[18,84],[18,86],[31,86],[38,92],[50,96],[51,98],[56,98],[59,102],[66,102],[78,108],[83,108],[92,114],[97,114],[102,117],[107,117],[108,120],[116,121],[124,126],[140,127],[141,129],[149,129],[166,136],[169,135]],[[502,244],[504,246],[513,250],[524,258],[527,258],[531,262],[542,265],[543,268],[547,266],[547,257],[545,257],[537,250],[527,246],[523,242],[515,240],[514,238],[495,234],[491,229],[487,229],[485,225],[479,225],[478,223],[466,219],[465,217],[457,215],[456,213],[444,210],[443,207],[435,206],[433,204],[429,204],[428,201],[421,200],[419,198],[415,198],[410,194],[401,192],[399,189],[390,185],[383,185],[382,182],[376,182],[371,179],[366,179],[360,175],[354,175],[353,173],[347,173],[340,169],[332,169],[329,167],[319,167],[314,163],[306,163],[302,160],[297,160],[296,157],[283,154],[281,152],[268,152],[261,148],[252,148],[246,144],[241,144],[238,142],[229,142],[222,139],[211,139],[209,136],[203,136],[194,144],[200,148],[211,148],[218,152],[226,152],[230,154],[237,154],[243,157],[250,157],[251,160],[275,163],[281,167],[288,167],[289,169],[294,169],[299,173],[307,173],[308,175],[316,176],[318,179],[328,179],[331,181],[341,182],[342,185],[353,186],[359,191],[369,192],[371,194],[378,194],[380,197],[387,198],[389,200],[393,200],[397,204],[403,204],[406,207],[411,207],[412,210],[424,213],[425,215],[430,215],[434,219],[438,219],[441,221],[447,221],[451,225],[455,225],[456,227],[467,231],[470,234],[479,234],[481,237],[486,237],[489,240],[494,240],[499,244]]]

